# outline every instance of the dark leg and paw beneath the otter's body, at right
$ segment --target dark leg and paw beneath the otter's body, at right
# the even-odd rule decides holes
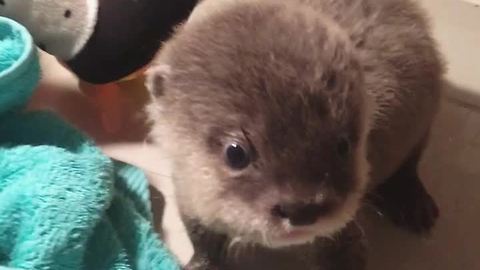
[[[439,216],[438,207],[418,177],[418,163],[424,142],[415,149],[402,167],[373,193],[380,212],[396,225],[414,233],[431,231]]]

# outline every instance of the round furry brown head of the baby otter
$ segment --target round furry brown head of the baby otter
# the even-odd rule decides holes
[[[333,22],[257,2],[202,14],[165,45],[148,79],[154,135],[185,216],[302,244],[344,227],[364,193],[363,77]]]

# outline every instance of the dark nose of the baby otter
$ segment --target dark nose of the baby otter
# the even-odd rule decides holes
[[[288,219],[292,226],[308,226],[317,222],[330,209],[331,205],[326,202],[277,204],[272,208],[272,215]]]

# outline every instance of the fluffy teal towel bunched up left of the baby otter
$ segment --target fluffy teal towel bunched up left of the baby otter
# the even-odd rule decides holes
[[[28,32],[0,17],[0,269],[179,269],[152,227],[144,174],[48,112]]]

